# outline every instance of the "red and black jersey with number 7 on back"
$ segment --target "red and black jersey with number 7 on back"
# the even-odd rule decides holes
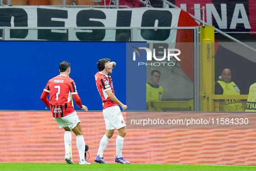
[[[50,93],[52,116],[64,117],[75,112],[71,102],[71,94],[78,94],[74,80],[66,75],[58,75],[50,79],[44,91]]]

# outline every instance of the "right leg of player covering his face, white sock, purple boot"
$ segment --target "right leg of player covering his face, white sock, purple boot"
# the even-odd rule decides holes
[[[126,126],[118,129],[118,136],[116,140],[116,145],[117,145],[117,156],[115,158],[115,161],[117,163],[121,164],[130,164],[130,161],[127,161],[122,157],[122,150],[123,150],[123,139],[126,135]]]

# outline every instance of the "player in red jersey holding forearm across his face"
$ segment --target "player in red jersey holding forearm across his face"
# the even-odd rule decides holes
[[[112,74],[113,63],[110,63],[110,59],[108,58],[100,59],[97,62],[97,68],[99,69],[99,72],[95,74],[95,81],[103,102],[103,116],[106,124],[106,133],[100,140],[100,147],[94,161],[97,163],[107,163],[103,159],[103,152],[107,147],[108,141],[113,136],[115,129],[117,129],[117,156],[115,161],[117,163],[130,164],[129,161],[126,161],[122,157],[123,139],[126,135],[126,125],[118,105],[120,105],[123,110],[126,110],[127,106],[121,103],[115,96],[113,82],[110,76],[110,74]]]

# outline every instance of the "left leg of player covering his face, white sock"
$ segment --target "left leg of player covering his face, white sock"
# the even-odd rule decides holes
[[[97,156],[94,159],[95,162],[107,164],[107,162],[103,159],[103,152],[104,152],[105,148],[107,147],[108,141],[113,136],[114,132],[115,132],[115,129],[106,130],[106,133],[100,140],[100,147],[98,149]]]

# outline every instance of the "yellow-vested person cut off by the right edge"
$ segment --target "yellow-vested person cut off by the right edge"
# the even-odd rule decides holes
[[[256,111],[256,83],[250,86],[245,111],[246,112]]]

